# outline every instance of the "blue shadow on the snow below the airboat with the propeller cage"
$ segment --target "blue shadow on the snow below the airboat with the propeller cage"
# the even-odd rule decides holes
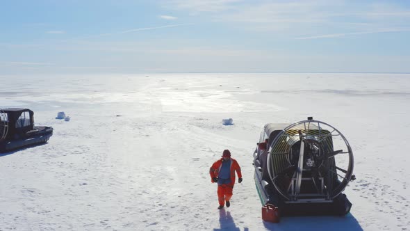
[[[363,228],[352,214],[346,216],[287,216],[282,217],[280,223],[269,223],[263,221],[267,230],[352,230],[362,231]]]

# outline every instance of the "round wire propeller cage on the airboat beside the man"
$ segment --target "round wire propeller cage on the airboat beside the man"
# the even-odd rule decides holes
[[[268,144],[269,177],[286,200],[332,200],[352,178],[352,148],[325,122],[296,122]]]

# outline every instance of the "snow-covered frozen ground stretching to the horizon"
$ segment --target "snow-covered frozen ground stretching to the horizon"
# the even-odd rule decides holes
[[[51,125],[49,143],[0,154],[0,230],[410,230],[410,74],[0,77],[0,107]],[[56,120],[65,111],[69,122]],[[268,122],[313,116],[352,145],[345,217],[261,220],[252,152]],[[233,125],[222,119],[233,118]],[[243,171],[218,210],[208,170]]]

